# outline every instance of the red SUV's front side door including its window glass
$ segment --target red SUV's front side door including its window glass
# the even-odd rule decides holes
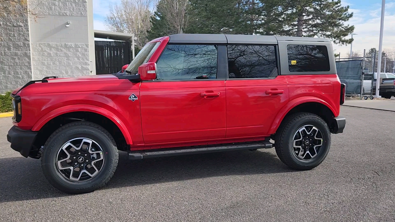
[[[167,45],[157,79],[140,86],[145,144],[220,139],[226,131],[225,80],[216,45]]]

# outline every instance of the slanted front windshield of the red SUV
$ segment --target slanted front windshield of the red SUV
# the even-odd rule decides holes
[[[136,75],[141,64],[146,63],[158,48],[160,42],[147,43],[139,52],[139,54],[134,57],[134,60],[126,68],[126,75]]]

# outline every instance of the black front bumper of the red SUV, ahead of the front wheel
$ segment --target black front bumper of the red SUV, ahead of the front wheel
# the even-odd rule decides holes
[[[37,133],[31,130],[21,130],[13,126],[8,131],[7,140],[11,143],[13,150],[20,152],[24,157],[28,157]]]

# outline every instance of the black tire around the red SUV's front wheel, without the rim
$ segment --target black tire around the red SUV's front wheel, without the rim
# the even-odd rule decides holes
[[[104,162],[96,176],[87,181],[66,179],[56,167],[56,156],[67,141],[85,137],[96,141],[103,150]],[[41,155],[41,168],[50,184],[71,194],[88,193],[104,186],[118,165],[118,149],[111,134],[92,122],[72,122],[58,128],[46,141]]]

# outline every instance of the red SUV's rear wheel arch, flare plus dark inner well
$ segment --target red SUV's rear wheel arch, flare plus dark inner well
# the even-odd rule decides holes
[[[315,97],[301,97],[292,100],[277,113],[271,124],[269,134],[275,134],[281,122],[288,116],[297,112],[314,113],[320,116],[328,124],[329,128],[333,124],[332,118],[336,117],[336,111],[329,103]]]

